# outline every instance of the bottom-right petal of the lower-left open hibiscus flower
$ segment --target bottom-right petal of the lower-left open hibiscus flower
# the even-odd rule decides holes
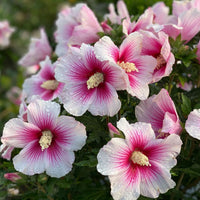
[[[46,173],[51,177],[60,178],[71,171],[75,156],[74,152],[62,149],[54,142],[46,149],[44,159]]]

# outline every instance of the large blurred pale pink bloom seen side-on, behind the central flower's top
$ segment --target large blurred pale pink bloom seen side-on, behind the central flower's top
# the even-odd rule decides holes
[[[55,33],[56,54],[65,55],[69,46],[91,44],[99,39],[98,32],[103,32],[96,16],[86,4],[79,3],[66,13],[59,13]]]

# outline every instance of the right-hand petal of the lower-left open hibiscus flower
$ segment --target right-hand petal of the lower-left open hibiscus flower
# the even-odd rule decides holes
[[[54,137],[62,149],[77,151],[85,145],[85,126],[73,117],[60,116],[57,118],[56,128],[53,130]]]

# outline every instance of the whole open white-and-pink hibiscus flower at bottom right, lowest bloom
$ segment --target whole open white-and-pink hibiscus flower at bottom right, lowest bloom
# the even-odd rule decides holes
[[[150,124],[129,124],[125,118],[117,126],[125,139],[112,138],[97,155],[97,170],[108,175],[114,200],[136,200],[140,194],[157,198],[173,188],[170,170],[177,163],[180,137],[156,139]]]

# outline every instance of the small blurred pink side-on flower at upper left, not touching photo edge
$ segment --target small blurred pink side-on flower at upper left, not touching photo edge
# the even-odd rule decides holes
[[[41,38],[32,38],[29,46],[29,51],[19,60],[19,65],[29,67],[38,65],[46,56],[51,56],[52,49],[49,45],[47,35],[44,29],[40,30]]]

